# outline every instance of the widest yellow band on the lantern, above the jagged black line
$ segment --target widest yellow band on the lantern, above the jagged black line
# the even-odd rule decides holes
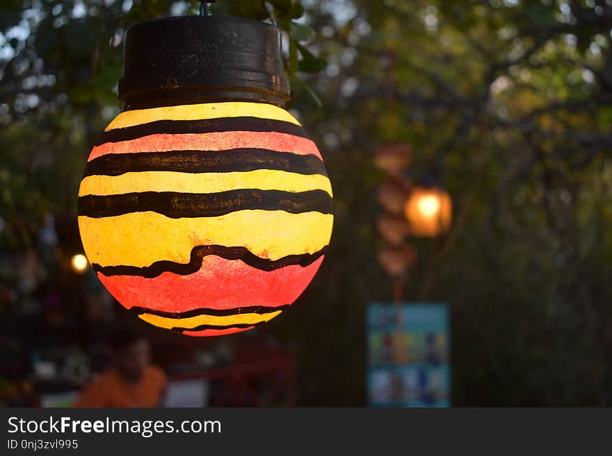
[[[328,245],[332,214],[240,210],[220,217],[170,219],[156,212],[79,217],[88,259],[102,266],[145,267],[169,260],[188,263],[194,246],[244,246],[262,258],[315,253]]]

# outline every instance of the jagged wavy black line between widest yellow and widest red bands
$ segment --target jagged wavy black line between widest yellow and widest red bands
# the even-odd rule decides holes
[[[151,266],[136,267],[136,266],[100,266],[97,263],[92,264],[94,271],[104,274],[106,277],[111,276],[141,276],[145,278],[154,278],[164,272],[171,272],[179,276],[188,276],[200,270],[202,267],[202,259],[208,255],[216,255],[225,258],[225,260],[241,260],[250,267],[261,269],[261,271],[274,271],[286,266],[298,265],[307,267],[309,264],[319,260],[319,257],[325,253],[325,248],[315,253],[303,253],[302,255],[287,255],[278,260],[268,260],[261,258],[251,253],[246,247],[226,247],[219,245],[195,246],[191,249],[191,258],[187,264],[177,263],[169,260],[156,261]]]

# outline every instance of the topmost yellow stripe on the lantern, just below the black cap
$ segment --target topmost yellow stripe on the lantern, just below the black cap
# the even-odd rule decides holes
[[[243,116],[282,120],[300,125],[300,122],[289,112],[275,105],[245,101],[226,101],[224,103],[163,106],[161,108],[124,111],[115,117],[111,124],[106,127],[106,131],[113,130],[114,128],[147,124],[157,120],[200,120]]]

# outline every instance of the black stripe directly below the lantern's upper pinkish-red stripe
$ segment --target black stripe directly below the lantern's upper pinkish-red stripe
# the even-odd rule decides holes
[[[322,174],[325,164],[316,155],[230,149],[226,151],[171,151],[108,153],[88,162],[85,176],[119,176],[138,171],[177,171],[182,173],[225,173],[275,169],[297,174]]]

